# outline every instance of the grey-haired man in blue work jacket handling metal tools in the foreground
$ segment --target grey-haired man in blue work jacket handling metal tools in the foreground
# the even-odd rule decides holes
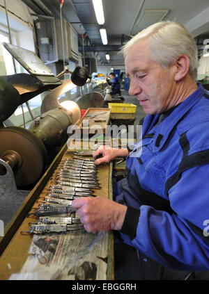
[[[142,146],[98,149],[97,164],[127,156],[126,177],[114,202],[92,197],[72,205],[86,231],[119,231],[123,243],[165,268],[209,270],[209,95],[196,83],[196,44],[180,24],[159,22],[123,54],[130,95],[147,114]]]

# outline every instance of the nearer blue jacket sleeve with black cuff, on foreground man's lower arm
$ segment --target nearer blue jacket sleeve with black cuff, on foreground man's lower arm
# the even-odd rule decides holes
[[[141,205],[138,212],[128,208],[132,218],[126,215],[121,229],[125,243],[169,268],[209,270],[208,174],[209,164],[181,174],[169,190],[172,214],[146,205]],[[136,219],[137,225],[133,226]]]

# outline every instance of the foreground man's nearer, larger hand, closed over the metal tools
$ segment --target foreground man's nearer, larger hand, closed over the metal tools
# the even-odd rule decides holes
[[[81,197],[72,201],[88,233],[120,230],[127,207],[104,197]]]

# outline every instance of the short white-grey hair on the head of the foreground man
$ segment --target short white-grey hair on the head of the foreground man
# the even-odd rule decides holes
[[[189,57],[189,74],[196,79],[197,67],[199,66],[197,47],[192,35],[182,24],[176,22],[157,22],[128,41],[121,52],[125,57],[129,49],[141,39],[149,39],[150,58],[162,65],[171,66],[178,56],[183,54]]]

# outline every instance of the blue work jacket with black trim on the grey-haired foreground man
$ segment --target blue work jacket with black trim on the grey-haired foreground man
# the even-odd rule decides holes
[[[146,115],[115,192],[124,242],[176,270],[209,270],[208,94],[199,84],[158,124]]]

